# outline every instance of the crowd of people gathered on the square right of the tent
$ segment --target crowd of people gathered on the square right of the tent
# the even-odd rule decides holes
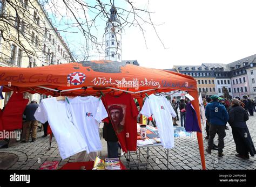
[[[181,120],[181,126],[186,127],[186,99],[171,100],[172,107],[177,113],[177,117],[173,118],[174,126],[177,126],[177,121]],[[206,152],[211,154],[212,150],[218,150],[218,156],[223,157],[223,149],[225,147],[224,138],[226,136],[225,130],[229,130],[227,124],[231,126],[232,135],[235,142],[235,148],[238,156],[242,159],[249,159],[250,156],[256,154],[253,141],[246,125],[249,115],[253,116],[255,110],[254,100],[249,98],[239,97],[234,99],[224,99],[217,95],[207,97],[203,100],[206,116],[206,137],[208,146]],[[178,114],[180,111],[180,118]],[[214,144],[215,135],[218,135],[218,145]]]

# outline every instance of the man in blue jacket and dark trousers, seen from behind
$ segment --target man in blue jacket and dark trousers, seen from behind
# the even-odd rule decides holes
[[[212,102],[206,105],[205,116],[210,124],[208,147],[206,152],[211,154],[213,148],[213,140],[218,132],[219,135],[219,157],[222,157],[224,148],[224,137],[226,136],[225,127],[228,121],[228,113],[224,105],[218,102],[219,96],[211,96]]]

